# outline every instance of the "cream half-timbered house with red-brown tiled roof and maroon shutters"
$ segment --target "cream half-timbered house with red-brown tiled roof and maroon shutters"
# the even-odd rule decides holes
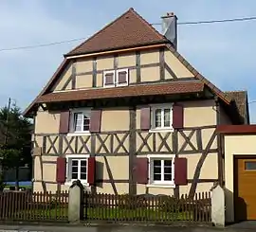
[[[224,185],[221,124],[248,124],[247,92],[222,92],[134,9],[64,55],[33,116],[33,189],[81,179],[103,193],[171,194]]]

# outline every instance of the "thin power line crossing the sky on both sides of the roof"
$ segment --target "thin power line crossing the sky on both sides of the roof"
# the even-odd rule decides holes
[[[200,24],[214,24],[214,23],[227,23],[227,22],[239,22],[239,21],[241,22],[241,21],[251,21],[251,20],[256,20],[256,16],[233,18],[233,19],[222,19],[222,20],[210,20],[210,21],[181,22],[181,23],[177,23],[177,24],[178,25],[200,25]],[[161,23],[155,23],[155,24],[151,24],[151,25],[156,26],[156,25],[161,25]],[[65,40],[65,41],[60,41],[60,42],[52,42],[52,43],[41,44],[41,45],[26,45],[26,46],[16,46],[16,47],[14,46],[14,47],[0,49],[0,52],[21,50],[21,49],[32,49],[32,48],[38,48],[38,47],[44,47],[44,46],[50,46],[50,45],[61,45],[61,44],[81,41],[81,40],[85,40],[85,39],[86,38],[83,37],[83,38]]]

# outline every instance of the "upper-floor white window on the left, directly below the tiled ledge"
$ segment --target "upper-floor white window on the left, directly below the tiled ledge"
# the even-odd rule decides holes
[[[71,113],[70,131],[84,133],[90,130],[90,110],[74,110]]]

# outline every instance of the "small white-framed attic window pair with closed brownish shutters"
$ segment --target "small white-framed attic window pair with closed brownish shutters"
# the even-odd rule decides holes
[[[129,71],[127,68],[117,71],[105,71],[103,73],[103,87],[126,86],[129,83]]]

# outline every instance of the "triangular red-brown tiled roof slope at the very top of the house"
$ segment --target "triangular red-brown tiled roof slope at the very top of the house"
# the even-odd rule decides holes
[[[131,8],[65,56],[159,43],[170,42]]]

